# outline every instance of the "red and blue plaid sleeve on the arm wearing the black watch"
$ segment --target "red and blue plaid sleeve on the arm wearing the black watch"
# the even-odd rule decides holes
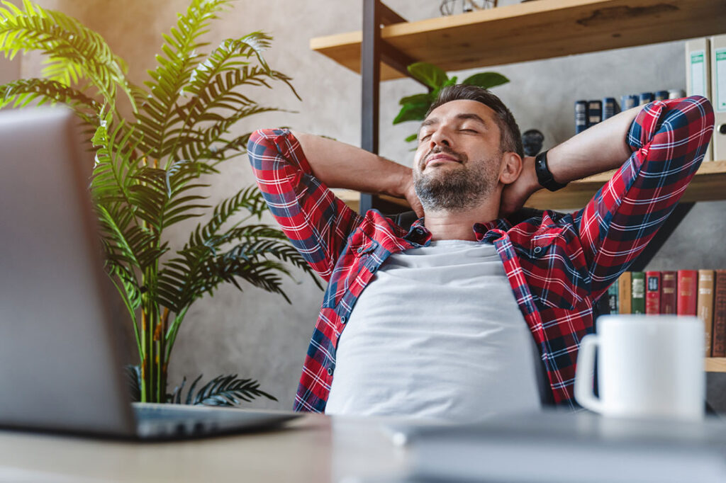
[[[708,99],[651,102],[627,134],[632,154],[574,214],[597,300],[640,255],[701,165],[714,114]]]

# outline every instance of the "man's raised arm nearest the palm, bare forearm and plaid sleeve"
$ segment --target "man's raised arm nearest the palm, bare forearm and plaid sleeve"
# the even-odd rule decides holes
[[[418,202],[410,168],[331,139],[261,129],[250,136],[248,156],[272,216],[326,281],[348,236],[362,221],[329,187]]]

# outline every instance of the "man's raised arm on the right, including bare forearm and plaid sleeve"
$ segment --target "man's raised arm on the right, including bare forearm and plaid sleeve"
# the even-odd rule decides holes
[[[560,183],[619,168],[573,214],[593,300],[627,270],[668,218],[701,165],[713,125],[708,99],[669,99],[622,112],[547,154]],[[525,160],[525,166],[529,181],[523,183],[532,186],[534,160]]]

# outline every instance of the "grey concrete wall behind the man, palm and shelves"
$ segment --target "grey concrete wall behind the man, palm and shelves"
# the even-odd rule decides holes
[[[439,15],[439,1],[388,0],[386,2],[408,20]],[[502,1],[502,4],[515,1]],[[296,113],[259,115],[238,130],[290,125],[300,131],[325,134],[359,145],[360,78],[335,62],[309,50],[309,39],[350,30],[362,23],[359,0],[269,0],[237,1],[229,12],[214,22],[208,39],[211,45],[223,38],[264,30],[274,36],[266,59],[276,70],[293,77],[302,97],[295,99],[285,86],[274,91],[258,89],[250,96],[262,104],[295,110]],[[175,12],[186,9],[183,0],[150,2],[126,0],[44,0],[41,5],[60,9],[104,35],[113,49],[129,62],[131,79],[142,83],[146,70],[160,51],[161,33],[176,22]],[[536,39],[533,39],[536,41]],[[4,65],[2,65],[4,67]],[[39,64],[30,57],[23,75],[35,75]],[[482,69],[457,73],[460,78]],[[619,49],[603,53],[547,59],[503,67],[491,67],[507,75],[511,82],[494,91],[508,104],[522,131],[539,128],[546,147],[574,133],[573,102],[603,96],[685,88],[682,42]],[[394,80],[381,87],[380,154],[410,165],[412,153],[402,141],[416,129],[414,123],[392,126],[401,96],[422,92],[413,80]],[[233,194],[252,182],[245,161],[232,162],[224,175],[214,180],[212,200]],[[720,243],[726,220],[725,202],[699,204],[683,226],[672,236],[649,268],[726,267],[726,253]],[[172,242],[183,243],[189,226],[171,234]],[[240,294],[224,287],[215,297],[198,301],[187,315],[171,361],[171,384],[182,375],[205,379],[219,373],[238,373],[261,382],[261,387],[279,402],[261,400],[252,406],[287,409],[292,405],[303,357],[322,298],[314,284],[301,274],[285,289],[293,305],[278,296],[245,286]]]

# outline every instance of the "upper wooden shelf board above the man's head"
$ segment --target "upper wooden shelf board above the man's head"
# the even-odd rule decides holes
[[[537,0],[380,30],[415,61],[446,71],[505,65],[726,32],[723,0]],[[360,72],[361,31],[312,38],[310,48]],[[403,74],[381,65],[380,79]]]

